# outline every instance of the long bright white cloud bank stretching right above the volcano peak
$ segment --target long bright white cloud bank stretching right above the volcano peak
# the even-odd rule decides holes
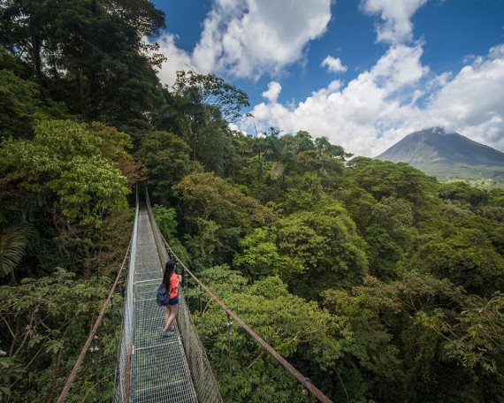
[[[453,75],[432,74],[422,52],[420,44],[396,45],[346,87],[332,81],[292,108],[260,103],[252,110],[257,128],[306,130],[355,155],[378,156],[405,135],[439,125],[504,150],[504,44]]]

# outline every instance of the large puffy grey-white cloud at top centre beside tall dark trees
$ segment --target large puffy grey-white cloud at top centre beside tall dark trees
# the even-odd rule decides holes
[[[215,0],[192,54],[162,38],[165,75],[183,61],[196,71],[256,80],[279,75],[304,57],[310,41],[325,33],[332,0]],[[174,54],[174,58],[172,55]],[[163,75],[162,75],[163,77]]]

